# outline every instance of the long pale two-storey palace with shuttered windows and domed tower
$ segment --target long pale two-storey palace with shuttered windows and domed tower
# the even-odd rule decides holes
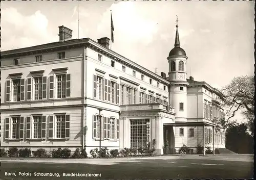
[[[1,52],[2,148],[225,148],[225,130],[212,123],[224,98],[187,78],[176,27],[167,76],[115,53],[109,38],[71,39],[63,25],[58,42]]]

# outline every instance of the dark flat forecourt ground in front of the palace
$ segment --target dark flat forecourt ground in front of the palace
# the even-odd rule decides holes
[[[0,179],[13,180],[253,178],[253,155],[209,155],[206,157],[183,155],[78,160],[0,158],[0,160]],[[6,175],[8,173],[10,175]],[[59,177],[44,176],[44,174],[35,176],[34,173],[58,173]],[[87,174],[87,177],[66,177],[63,173],[90,174]],[[95,174],[101,176],[89,177]]]

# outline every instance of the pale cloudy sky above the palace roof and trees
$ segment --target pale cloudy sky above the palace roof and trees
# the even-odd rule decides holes
[[[77,8],[79,5],[79,8]],[[111,36],[112,50],[168,74],[176,15],[187,76],[215,88],[254,72],[254,2],[249,1],[29,1],[1,2],[1,50],[59,40],[58,27],[78,38]]]

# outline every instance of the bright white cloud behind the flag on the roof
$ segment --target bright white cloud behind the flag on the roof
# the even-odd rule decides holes
[[[152,42],[154,35],[158,32],[157,22],[147,19],[143,9],[135,6],[134,2],[113,4],[103,13],[97,27],[97,31],[102,34],[102,37],[110,37],[110,10],[112,10],[115,40],[119,39],[122,42],[140,41],[144,44]]]

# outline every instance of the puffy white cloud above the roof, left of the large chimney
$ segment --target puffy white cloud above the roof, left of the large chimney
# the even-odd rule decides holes
[[[28,47],[58,40],[57,35],[48,32],[48,19],[40,11],[24,16],[15,8],[7,8],[2,10],[1,20],[2,50]]]

